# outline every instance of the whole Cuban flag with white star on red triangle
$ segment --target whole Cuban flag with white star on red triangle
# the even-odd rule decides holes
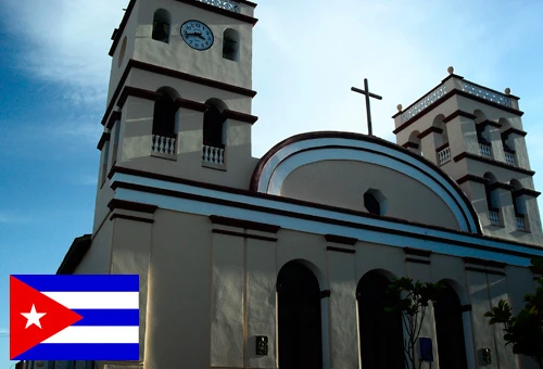
[[[139,276],[10,276],[11,360],[139,360]]]

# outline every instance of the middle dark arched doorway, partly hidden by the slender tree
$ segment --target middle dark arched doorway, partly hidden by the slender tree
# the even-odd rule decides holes
[[[387,294],[389,283],[378,271],[369,271],[356,287],[363,369],[404,368],[401,313],[384,310],[392,306],[392,297]]]

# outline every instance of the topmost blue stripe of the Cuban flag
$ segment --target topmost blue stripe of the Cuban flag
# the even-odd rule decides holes
[[[138,275],[13,276],[39,292],[138,292]]]

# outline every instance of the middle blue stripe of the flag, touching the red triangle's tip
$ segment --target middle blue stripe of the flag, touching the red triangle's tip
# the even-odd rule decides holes
[[[83,319],[73,326],[139,326],[138,309],[74,309]]]

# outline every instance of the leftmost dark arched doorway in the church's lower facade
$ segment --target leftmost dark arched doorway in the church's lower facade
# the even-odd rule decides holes
[[[306,266],[287,263],[277,277],[279,368],[321,369],[320,288]]]

